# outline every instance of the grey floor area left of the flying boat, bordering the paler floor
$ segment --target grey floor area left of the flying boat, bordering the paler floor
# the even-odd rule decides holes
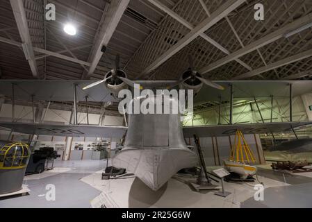
[[[90,207],[90,200],[101,192],[81,182],[80,179],[104,169],[106,161],[57,161],[56,169],[69,169],[63,173],[46,171],[42,175],[27,176],[24,184],[31,190],[28,196],[18,196],[0,200],[0,208],[5,207]],[[55,185],[56,200],[47,201],[47,185]]]

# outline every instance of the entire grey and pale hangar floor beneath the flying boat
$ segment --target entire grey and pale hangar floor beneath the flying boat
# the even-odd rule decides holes
[[[0,208],[91,207],[90,201],[100,194],[105,194],[111,207],[312,207],[312,173],[281,173],[263,165],[258,180],[265,185],[264,200],[256,201],[253,185],[258,182],[225,182],[231,194],[222,198],[215,191],[192,191],[184,182],[194,178],[175,176],[154,192],[132,176],[101,180],[105,166],[106,161],[58,161],[52,171],[26,176],[29,195],[1,199]],[[55,201],[46,199],[49,184],[56,186]]]

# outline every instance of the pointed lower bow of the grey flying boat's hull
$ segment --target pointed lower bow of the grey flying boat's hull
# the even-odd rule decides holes
[[[113,166],[134,173],[154,191],[180,169],[194,167],[197,156],[187,148],[123,149],[113,158]]]

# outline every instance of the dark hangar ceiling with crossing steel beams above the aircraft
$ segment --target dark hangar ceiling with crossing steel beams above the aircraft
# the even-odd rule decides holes
[[[18,2],[0,1],[2,79],[100,79],[117,54],[133,79],[179,78],[188,55],[213,80],[312,76],[309,0]],[[56,21],[44,19],[47,3],[56,6]],[[263,21],[254,19],[256,3],[263,3]],[[63,32],[67,22],[77,35]]]

